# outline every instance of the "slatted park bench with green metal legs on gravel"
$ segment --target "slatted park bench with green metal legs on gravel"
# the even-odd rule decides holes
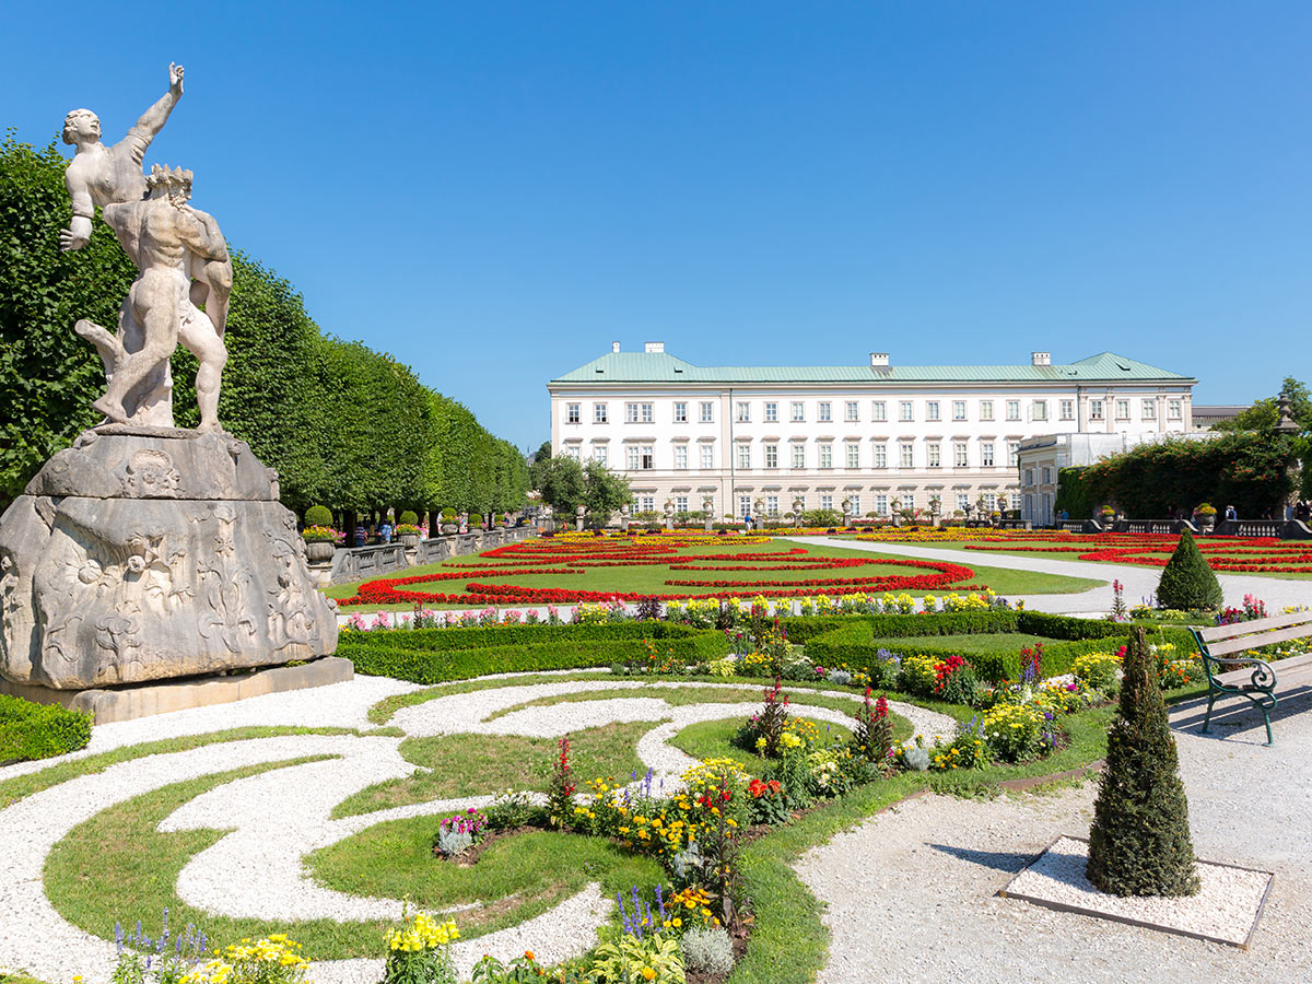
[[[1203,656],[1203,669],[1207,673],[1207,715],[1203,718],[1203,733],[1211,724],[1212,705],[1218,697],[1246,697],[1262,711],[1262,719],[1266,722],[1266,744],[1274,744],[1271,711],[1275,710],[1278,699],[1275,690],[1279,687],[1287,693],[1312,687],[1312,652],[1279,660],[1278,680],[1275,666],[1244,653],[1262,646],[1312,636],[1312,611],[1294,611],[1287,615],[1189,631],[1198,643]]]

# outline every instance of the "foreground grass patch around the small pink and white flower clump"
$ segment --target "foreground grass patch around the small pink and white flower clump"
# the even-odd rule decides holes
[[[497,840],[476,865],[462,867],[433,857],[436,817],[378,824],[307,858],[318,882],[350,895],[409,899],[442,909],[478,903],[457,921],[462,937],[516,925],[601,883],[602,896],[651,890],[664,871],[651,857],[634,854],[601,837],[533,830]],[[294,937],[295,938],[295,937]]]

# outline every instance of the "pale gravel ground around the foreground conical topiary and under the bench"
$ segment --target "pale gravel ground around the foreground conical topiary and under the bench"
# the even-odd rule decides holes
[[[1052,984],[1305,984],[1312,967],[1312,695],[1261,715],[1172,708],[1199,855],[1275,872],[1252,950],[1172,937],[996,892],[1059,834],[1084,836],[1097,783],[1055,795],[925,796],[810,851],[802,879],[833,933],[819,984],[854,980]],[[945,945],[946,943],[946,945]],[[1023,964],[1023,975],[1019,966]]]

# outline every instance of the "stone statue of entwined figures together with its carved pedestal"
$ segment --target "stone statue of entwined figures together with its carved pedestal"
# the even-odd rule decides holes
[[[223,234],[190,205],[190,171],[143,171],[182,77],[169,66],[168,92],[112,147],[91,110],[64,119],[76,152],[60,248],[87,245],[98,207],[138,277],[115,331],[73,325],[105,366],[93,403],[104,422],[46,462],[0,517],[0,685],[22,693],[269,666],[336,648],[336,614],[310,580],[277,472],[218,419],[232,291]],[[178,342],[199,362],[194,430],[173,425]]]

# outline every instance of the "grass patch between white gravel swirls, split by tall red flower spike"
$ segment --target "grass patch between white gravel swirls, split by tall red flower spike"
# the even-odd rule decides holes
[[[572,732],[569,756],[575,774],[592,778],[646,771],[638,758],[638,740],[653,727],[656,722],[622,722]],[[442,735],[407,739],[400,752],[405,761],[430,771],[367,786],[333,807],[333,819],[508,789],[546,792],[556,739]]]

